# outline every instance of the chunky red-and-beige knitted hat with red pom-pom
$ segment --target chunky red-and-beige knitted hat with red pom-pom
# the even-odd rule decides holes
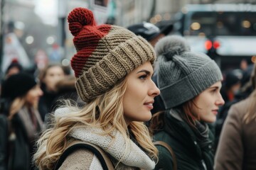
[[[71,59],[83,101],[92,101],[110,90],[133,69],[155,60],[154,49],[144,38],[110,25],[96,26],[92,11],[75,8],[68,15],[77,54]]]

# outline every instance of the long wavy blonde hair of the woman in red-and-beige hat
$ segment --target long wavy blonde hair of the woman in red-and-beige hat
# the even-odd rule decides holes
[[[110,135],[113,130],[119,130],[124,139],[129,142],[122,103],[127,88],[126,82],[124,79],[110,91],[87,103],[82,109],[66,103],[65,107],[70,108],[72,113],[63,115],[61,118],[55,117],[53,128],[46,130],[38,140],[38,151],[34,154],[34,161],[39,169],[54,169],[55,163],[68,145],[69,132],[80,126],[102,128],[105,131],[104,135]],[[144,123],[132,122],[129,128],[149,157],[157,159],[157,149],[151,142],[149,130]]]

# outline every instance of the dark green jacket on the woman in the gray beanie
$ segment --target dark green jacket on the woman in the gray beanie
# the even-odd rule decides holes
[[[174,150],[178,169],[181,170],[211,170],[213,169],[213,133],[208,130],[208,143],[199,145],[195,132],[179,116],[164,113],[164,130],[154,135],[155,141],[164,141]],[[207,125],[206,125],[207,126]],[[168,150],[159,149],[159,162],[155,169],[172,169],[173,159]]]

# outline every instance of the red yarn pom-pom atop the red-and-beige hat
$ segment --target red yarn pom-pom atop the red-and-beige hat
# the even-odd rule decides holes
[[[74,8],[68,15],[69,29],[76,36],[83,26],[96,26],[92,11],[87,8]]]

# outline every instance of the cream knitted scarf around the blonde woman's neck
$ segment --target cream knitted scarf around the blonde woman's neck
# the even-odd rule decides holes
[[[68,108],[58,108],[55,117],[69,114]],[[104,131],[100,128],[75,128],[71,130],[70,136],[75,139],[90,142],[97,145],[109,153],[118,162],[126,166],[139,167],[140,169],[154,169],[155,163],[140,149],[132,140],[125,142],[124,137],[117,130],[109,135],[101,135]]]

